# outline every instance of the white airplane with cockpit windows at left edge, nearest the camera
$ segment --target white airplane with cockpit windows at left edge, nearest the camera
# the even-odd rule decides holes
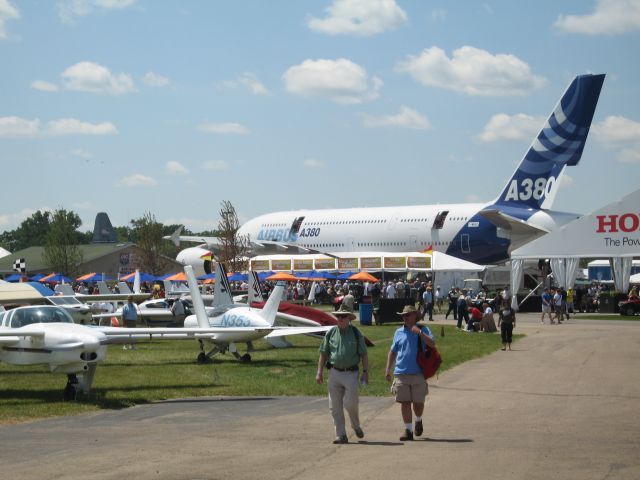
[[[3,310],[3,309],[2,309]],[[78,391],[88,394],[96,368],[107,356],[107,345],[141,341],[176,340],[229,335],[267,335],[273,327],[114,328],[78,325],[62,308],[51,305],[0,311],[0,362],[49,366],[52,373],[67,374],[64,399]]]

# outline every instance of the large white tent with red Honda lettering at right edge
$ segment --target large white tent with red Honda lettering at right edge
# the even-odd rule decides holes
[[[580,258],[608,257],[612,259],[616,288],[626,291],[632,258],[640,257],[639,202],[640,190],[636,190],[514,250],[511,253],[512,282],[517,283],[513,277],[518,274],[519,261],[550,258],[556,281],[571,287]]]

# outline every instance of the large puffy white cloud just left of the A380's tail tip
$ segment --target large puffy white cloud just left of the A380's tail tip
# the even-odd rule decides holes
[[[525,95],[546,81],[514,55],[493,55],[470,46],[454,50],[452,58],[441,48],[426,48],[419,55],[407,56],[396,71],[408,73],[422,85],[468,95]]]

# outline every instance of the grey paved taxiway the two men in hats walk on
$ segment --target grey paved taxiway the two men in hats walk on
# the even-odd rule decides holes
[[[431,325],[438,333],[438,322]],[[354,443],[341,446],[331,444],[325,398],[199,398],[0,426],[0,472],[14,479],[640,478],[640,322],[542,326],[531,314],[520,315],[517,331],[527,337],[514,351],[431,383],[418,441],[398,441],[400,413],[390,398],[362,398],[365,439],[350,436]]]

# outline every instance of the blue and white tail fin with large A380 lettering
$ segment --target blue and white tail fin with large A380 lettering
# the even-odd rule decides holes
[[[495,204],[550,208],[566,166],[582,156],[604,74],[573,79]]]

